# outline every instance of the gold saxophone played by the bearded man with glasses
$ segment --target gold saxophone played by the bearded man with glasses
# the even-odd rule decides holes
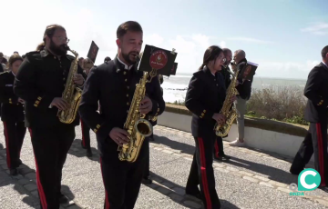
[[[78,54],[76,51],[71,50],[68,46],[67,50],[76,56],[70,65],[69,73],[67,76],[67,83],[62,95],[62,98],[67,102],[67,104],[69,104],[69,108],[66,110],[59,110],[57,116],[60,122],[64,124],[72,124],[77,116],[77,110],[81,101],[82,90],[77,88],[76,84],[74,84],[74,76],[77,75]]]

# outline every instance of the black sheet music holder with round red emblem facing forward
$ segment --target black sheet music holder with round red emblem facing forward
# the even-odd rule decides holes
[[[162,49],[153,45],[146,45],[138,70],[151,72],[157,70],[157,75],[171,75],[172,66],[178,53]]]

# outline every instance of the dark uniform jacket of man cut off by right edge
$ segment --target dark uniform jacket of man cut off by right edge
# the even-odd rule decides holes
[[[310,72],[304,88],[308,98],[304,118],[308,122],[327,121],[328,106],[328,67],[323,63],[316,65]]]

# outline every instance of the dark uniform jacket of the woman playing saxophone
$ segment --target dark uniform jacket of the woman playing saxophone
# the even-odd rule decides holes
[[[212,75],[204,67],[191,77],[186,95],[186,107],[192,113],[191,131],[194,137],[213,134],[216,121],[213,114],[219,114],[226,96],[226,87],[220,73]]]

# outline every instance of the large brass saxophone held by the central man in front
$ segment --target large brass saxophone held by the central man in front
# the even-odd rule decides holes
[[[136,90],[128,110],[128,117],[124,124],[124,129],[127,130],[129,134],[129,142],[123,144],[123,146],[118,146],[118,159],[121,161],[135,162],[145,138],[153,132],[152,125],[145,119],[146,115],[140,114],[138,110],[140,102],[146,94],[146,84],[151,81],[151,79],[150,81],[148,80],[149,76],[151,79],[156,76],[156,70],[150,73],[144,72],[144,75],[136,85]]]

